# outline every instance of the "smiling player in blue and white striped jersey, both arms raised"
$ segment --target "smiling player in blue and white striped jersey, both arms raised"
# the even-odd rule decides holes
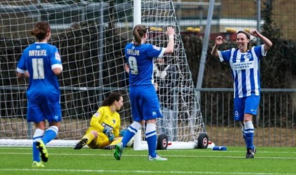
[[[249,47],[250,34],[259,37],[264,44],[256,47]],[[246,158],[254,158],[256,148],[253,144],[254,126],[253,115],[257,114],[260,101],[260,74],[258,63],[267,50],[272,46],[269,39],[256,30],[239,31],[236,35],[237,48],[219,51],[224,39],[221,36],[216,38],[212,55],[219,57],[221,62],[228,62],[231,68],[231,75],[234,80],[234,120],[241,121],[243,137],[247,146]]]

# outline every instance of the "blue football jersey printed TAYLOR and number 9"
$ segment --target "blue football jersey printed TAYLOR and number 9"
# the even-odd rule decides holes
[[[130,86],[153,83],[153,58],[162,58],[164,50],[151,44],[127,44],[125,57],[130,66]]]

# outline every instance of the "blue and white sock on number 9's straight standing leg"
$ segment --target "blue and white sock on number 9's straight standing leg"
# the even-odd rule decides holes
[[[156,135],[156,126],[154,124],[148,123],[146,126],[146,140],[148,143],[148,152],[149,155],[152,158],[156,157],[156,141],[157,141],[157,135]]]

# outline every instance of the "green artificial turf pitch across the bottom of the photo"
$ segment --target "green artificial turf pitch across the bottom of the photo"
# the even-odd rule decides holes
[[[0,147],[0,175],[296,175],[296,148],[258,147],[254,159],[246,148],[159,150],[167,161],[148,161],[148,151],[48,147],[44,168],[32,168],[32,148]]]

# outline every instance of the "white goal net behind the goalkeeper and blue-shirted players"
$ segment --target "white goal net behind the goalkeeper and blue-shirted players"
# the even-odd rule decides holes
[[[166,47],[166,28],[176,29],[174,54],[164,56],[164,64],[155,63],[164,114],[157,121],[158,134],[165,133],[169,141],[196,141],[204,125],[173,3],[142,0],[141,6],[148,43]],[[58,76],[62,122],[57,139],[49,144],[74,146],[112,91],[124,98],[121,128],[132,123],[124,69],[124,47],[133,37],[132,0],[7,0],[0,3],[0,13],[0,145],[32,144],[34,125],[26,121],[29,80],[16,78],[16,65],[22,51],[35,42],[30,31],[38,21],[49,22],[49,43],[59,49],[63,64]]]

